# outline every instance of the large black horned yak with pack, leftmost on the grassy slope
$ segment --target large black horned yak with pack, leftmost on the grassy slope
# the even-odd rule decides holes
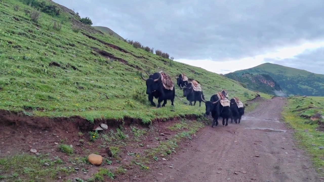
[[[176,94],[170,76],[160,71],[150,74],[149,78],[144,78],[141,73],[141,77],[146,82],[146,94],[152,106],[156,106],[153,98],[157,98],[157,108],[161,107],[162,101],[164,101],[162,104],[162,107],[164,107],[167,104],[167,100],[171,100],[171,105],[174,106],[173,101]]]

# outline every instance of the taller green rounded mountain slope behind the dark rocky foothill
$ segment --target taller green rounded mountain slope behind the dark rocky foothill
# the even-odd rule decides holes
[[[324,75],[290,68],[279,64],[264,63],[253,68],[238,70],[225,76],[236,74],[269,74],[289,95],[324,96]]]

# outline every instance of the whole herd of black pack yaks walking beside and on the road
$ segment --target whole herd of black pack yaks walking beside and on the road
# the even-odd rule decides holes
[[[146,73],[147,74],[147,73]],[[162,107],[167,104],[167,100],[171,100],[171,105],[173,105],[175,98],[175,86],[171,77],[166,73],[160,71],[153,74],[147,74],[149,78],[144,78],[141,74],[141,77],[146,82],[146,94],[148,95],[148,100],[151,102],[152,106],[156,106],[153,102],[153,97],[157,98],[157,108],[161,107],[161,102],[163,101]],[[233,97],[228,100],[228,94],[226,90],[214,94],[210,101],[205,101],[201,85],[193,80],[188,79],[185,74],[179,74],[177,79],[177,85],[180,89],[183,89],[183,97],[186,97],[190,102],[189,105],[192,106],[192,101],[194,101],[193,106],[196,105],[196,101],[199,101],[199,107],[201,107],[201,102],[205,103],[206,106],[206,116],[212,114],[213,125],[218,126],[218,118],[223,118],[223,125],[228,125],[228,119],[231,118],[231,123],[233,119],[235,123],[241,122],[242,115],[244,114],[244,105],[237,98]],[[226,119],[226,123],[225,123]]]

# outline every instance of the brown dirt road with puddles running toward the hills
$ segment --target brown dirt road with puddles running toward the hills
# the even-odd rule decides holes
[[[322,181],[310,158],[295,146],[293,131],[279,121],[285,104],[275,97],[246,114],[240,124],[204,128],[191,145],[144,181]]]

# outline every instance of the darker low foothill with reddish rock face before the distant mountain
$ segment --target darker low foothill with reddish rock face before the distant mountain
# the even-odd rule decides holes
[[[257,90],[267,94],[275,94],[276,91],[281,91],[280,85],[267,74],[250,74],[245,73],[238,76],[235,73],[226,74],[227,78],[236,80],[246,85],[249,90]]]

